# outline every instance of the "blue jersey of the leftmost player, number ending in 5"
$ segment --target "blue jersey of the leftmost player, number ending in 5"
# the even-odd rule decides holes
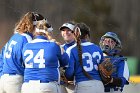
[[[4,53],[3,74],[24,74],[22,49],[31,40],[32,34],[30,33],[16,33],[10,38]]]

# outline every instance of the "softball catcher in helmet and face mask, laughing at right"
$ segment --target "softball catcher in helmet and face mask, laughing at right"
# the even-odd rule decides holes
[[[111,75],[111,81],[105,85],[105,93],[121,93],[123,87],[129,84],[129,69],[126,58],[119,55],[122,49],[121,41],[113,32],[107,32],[101,37],[100,47],[104,56],[111,59],[115,71]]]

